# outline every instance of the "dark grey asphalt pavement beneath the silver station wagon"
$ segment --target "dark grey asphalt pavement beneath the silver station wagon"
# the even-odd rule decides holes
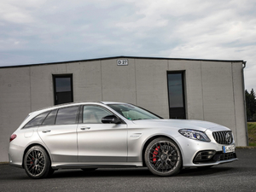
[[[207,170],[183,169],[174,177],[157,177],[147,168],[59,170],[35,180],[23,169],[0,165],[0,191],[256,191],[256,148],[238,148],[239,160]]]

